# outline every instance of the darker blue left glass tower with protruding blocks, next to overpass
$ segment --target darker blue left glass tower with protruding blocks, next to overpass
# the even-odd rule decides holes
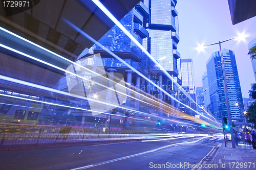
[[[140,44],[142,44],[143,41],[142,45],[145,47],[147,47],[146,44],[148,40],[148,32],[145,29],[147,18],[148,8],[143,2],[140,2],[120,20],[120,23]],[[119,27],[115,25],[98,42],[122,58],[126,63],[139,70],[143,75],[147,76],[148,57],[142,53],[142,50]],[[138,88],[143,86],[141,83],[144,83],[145,81],[142,81],[132,70],[96,44],[90,49],[86,48],[86,50],[80,54],[78,60],[83,60],[82,66],[85,67],[98,66],[98,59],[87,58],[88,56],[98,53],[100,54],[105,71],[118,72],[123,75],[126,82],[129,82],[132,85],[137,85]],[[87,59],[84,60],[84,58]],[[145,87],[142,87],[141,89],[146,91]]]

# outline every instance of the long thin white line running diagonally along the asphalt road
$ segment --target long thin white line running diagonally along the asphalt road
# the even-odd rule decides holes
[[[168,147],[172,147],[172,146],[176,146],[176,145],[180,145],[180,144],[187,144],[187,143],[194,143],[194,142],[198,142],[204,138],[207,138],[208,136],[206,137],[203,137],[199,140],[196,140],[196,141],[191,141],[191,142],[183,142],[183,143],[174,143],[174,144],[169,144],[169,145],[166,145],[165,147],[161,147],[161,148],[157,148],[157,149],[154,149],[154,150],[150,150],[150,151],[146,151],[146,152],[142,152],[142,153],[138,153],[138,154],[134,154],[134,155],[129,155],[129,156],[124,156],[124,157],[121,157],[121,158],[116,158],[116,159],[112,159],[112,160],[108,160],[108,161],[104,161],[104,162],[99,162],[99,163],[95,163],[93,165],[87,165],[87,166],[82,166],[82,167],[77,167],[77,168],[73,168],[71,170],[77,170],[77,169],[87,169],[87,168],[90,168],[90,167],[94,167],[94,166],[99,166],[99,165],[103,165],[103,164],[106,164],[106,163],[111,163],[111,162],[115,162],[115,161],[119,161],[119,160],[123,160],[123,159],[127,159],[127,158],[132,158],[132,157],[135,157],[135,156],[139,156],[139,155],[143,155],[143,154],[147,154],[147,153],[151,153],[151,152],[155,152],[155,151],[158,151],[158,150],[161,150],[161,149],[165,149],[165,148],[168,148]],[[212,148],[213,150],[214,148]],[[209,153],[208,153],[209,154]]]

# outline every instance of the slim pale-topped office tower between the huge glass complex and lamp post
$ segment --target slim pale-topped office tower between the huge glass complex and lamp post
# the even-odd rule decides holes
[[[195,76],[192,59],[181,59],[181,77],[182,77],[182,88],[190,95],[190,98],[196,102],[196,89],[195,89]],[[191,101],[185,94],[179,94],[180,102],[186,106],[196,110],[196,104]],[[180,106],[180,109],[190,115],[194,115],[194,111],[187,108],[184,105]]]

